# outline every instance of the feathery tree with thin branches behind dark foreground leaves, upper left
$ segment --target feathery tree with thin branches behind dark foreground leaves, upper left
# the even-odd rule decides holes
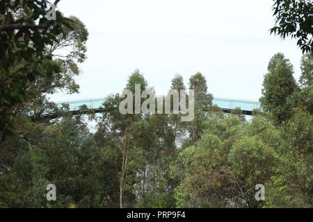
[[[31,109],[31,117],[35,121],[39,121],[47,112],[56,112],[54,103],[47,99],[48,94],[54,94],[59,90],[67,94],[79,92],[79,85],[75,83],[74,76],[81,74],[79,63],[86,60],[88,31],[77,17],[71,16],[70,19],[72,28],[63,27],[63,33],[57,37],[57,41],[49,48],[45,48],[60,67],[60,72],[47,76],[45,69],[42,69],[42,76],[37,76],[30,84],[24,103],[18,104],[17,112],[27,112]]]

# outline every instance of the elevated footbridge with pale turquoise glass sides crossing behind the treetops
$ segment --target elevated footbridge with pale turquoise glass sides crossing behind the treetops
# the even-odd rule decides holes
[[[106,101],[106,98],[99,99],[81,99],[73,101],[61,101],[57,102],[58,108],[61,108],[63,104],[69,105],[70,111],[76,114],[81,105],[86,105],[89,110],[95,110],[95,112],[101,112],[100,107],[102,103]],[[213,105],[218,105],[224,112],[231,112],[234,108],[240,108],[243,114],[252,115],[252,110],[260,108],[260,103],[250,100],[242,99],[227,99],[227,98],[214,98]],[[55,118],[54,114],[47,114],[48,119]]]

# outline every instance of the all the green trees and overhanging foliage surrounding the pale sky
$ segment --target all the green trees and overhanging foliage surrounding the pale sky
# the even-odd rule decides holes
[[[247,117],[213,105],[201,72],[188,87],[177,74],[168,90],[195,92],[194,118],[181,121],[182,113],[122,114],[117,92],[99,114],[49,101],[58,90],[79,92],[74,77],[88,30],[58,10],[48,20],[48,1],[1,1],[0,207],[313,207],[312,2],[273,7],[271,32],[298,38],[305,52],[300,78],[283,53],[273,55],[261,108]],[[125,89],[134,94],[136,84],[153,89],[138,69]],[[48,201],[51,184],[57,198]],[[263,200],[255,198],[257,185],[265,187]]]

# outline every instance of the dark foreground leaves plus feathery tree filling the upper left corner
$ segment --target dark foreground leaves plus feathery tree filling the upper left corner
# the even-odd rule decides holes
[[[0,136],[4,139],[24,104],[36,99],[40,107],[47,103],[45,94],[58,89],[78,92],[73,76],[79,74],[77,63],[86,59],[88,31],[79,19],[63,17],[59,11],[56,21],[48,21],[48,1],[4,1],[0,7]],[[58,54],[63,48],[70,53]]]

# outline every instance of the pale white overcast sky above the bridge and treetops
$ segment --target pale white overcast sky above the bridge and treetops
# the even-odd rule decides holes
[[[62,0],[58,10],[88,29],[88,59],[75,78],[79,94],[58,92],[51,101],[121,93],[139,69],[157,95],[172,78],[200,71],[214,97],[258,101],[268,62],[278,52],[300,76],[296,40],[270,35],[273,0]]]

